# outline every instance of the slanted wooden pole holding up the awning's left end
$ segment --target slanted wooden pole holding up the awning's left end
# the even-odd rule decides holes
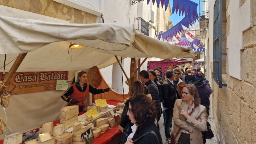
[[[3,80],[3,83],[5,86],[7,86],[10,83],[11,78],[13,77],[13,74],[16,72],[16,70],[18,69],[18,67],[20,66],[21,62],[23,61],[26,55],[27,53],[22,53],[18,55],[11,69],[8,71],[8,73],[6,74]],[[5,87],[0,86],[0,96],[2,96],[2,94],[4,93],[4,90],[5,90]]]

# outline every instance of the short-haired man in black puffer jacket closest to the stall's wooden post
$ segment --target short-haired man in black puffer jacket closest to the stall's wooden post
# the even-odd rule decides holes
[[[140,82],[143,83],[143,85],[147,86],[149,94],[152,97],[152,100],[155,100],[155,106],[156,106],[156,112],[157,112],[157,116],[156,116],[157,128],[159,129],[158,121],[160,120],[162,111],[161,111],[161,104],[159,101],[158,88],[157,88],[156,84],[154,82],[152,82],[151,79],[149,79],[149,75],[146,70],[140,71],[139,78],[140,78]]]

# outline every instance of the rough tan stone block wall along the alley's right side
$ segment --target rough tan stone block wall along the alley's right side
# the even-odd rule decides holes
[[[228,5],[227,1],[227,5]],[[243,5],[246,0],[241,0]],[[227,6],[228,7],[228,6]],[[239,70],[240,67],[227,66],[223,69],[222,83],[227,87],[218,88],[214,82],[213,109],[216,135],[222,144],[256,143],[256,0],[252,0],[253,26],[243,31],[243,47],[241,50],[242,80],[231,77],[228,71]],[[230,15],[232,15],[230,13]],[[230,21],[227,18],[227,38],[229,38]],[[232,29],[234,30],[234,29]],[[232,47],[227,47],[231,49]],[[228,50],[227,49],[227,50]],[[228,59],[235,57],[228,53]],[[229,63],[227,62],[227,65]]]

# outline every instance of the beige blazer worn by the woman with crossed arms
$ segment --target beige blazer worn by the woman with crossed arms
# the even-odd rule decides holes
[[[173,135],[175,136],[178,132],[179,128],[187,130],[190,132],[190,144],[203,144],[203,138],[201,131],[206,131],[206,108],[203,105],[198,105],[192,115],[189,117],[188,122],[186,122],[185,117],[180,115],[180,110],[184,110],[187,112],[187,103],[182,99],[176,100],[173,108]],[[197,121],[197,119],[201,118],[202,122]],[[195,127],[195,132],[193,131],[193,127]],[[181,134],[181,130],[177,137],[175,138],[175,143],[178,142],[179,136]]]

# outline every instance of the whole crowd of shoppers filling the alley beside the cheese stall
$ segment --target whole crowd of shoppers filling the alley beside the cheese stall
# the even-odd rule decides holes
[[[162,114],[167,144],[206,143],[212,89],[203,64],[172,65],[164,73],[158,66],[140,71],[138,79],[131,84],[121,116],[120,144],[162,144],[158,124]]]

